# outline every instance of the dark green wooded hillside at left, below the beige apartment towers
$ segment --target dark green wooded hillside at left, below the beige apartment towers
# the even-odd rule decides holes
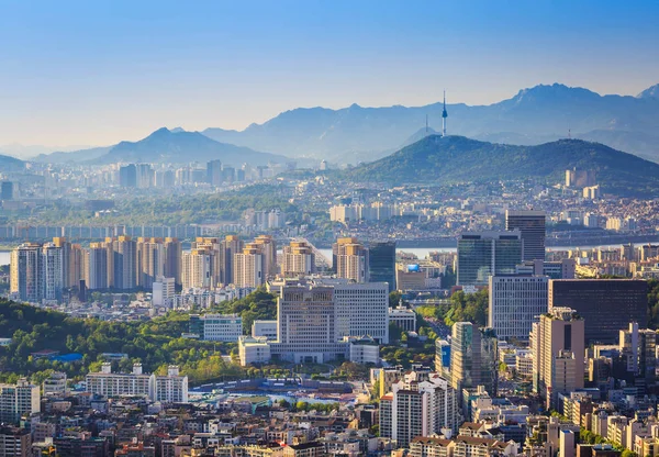
[[[255,319],[273,319],[276,308],[273,296],[259,289],[209,311],[239,313],[247,330]],[[182,338],[188,327],[186,313],[170,312],[145,322],[108,322],[0,300],[0,337],[12,338],[9,346],[0,346],[0,382],[14,382],[20,376],[38,381],[52,369],[81,378],[100,369],[103,353],[125,353],[127,358],[116,367],[124,371],[135,361],[142,363],[146,372],[166,372],[168,365],[179,365],[193,383],[245,376],[238,366],[221,357],[234,350],[235,344]],[[32,356],[44,349],[77,353],[82,359],[63,363]]]

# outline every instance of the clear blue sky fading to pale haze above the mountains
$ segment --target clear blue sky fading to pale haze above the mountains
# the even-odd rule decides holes
[[[659,82],[657,1],[0,0],[0,145]]]

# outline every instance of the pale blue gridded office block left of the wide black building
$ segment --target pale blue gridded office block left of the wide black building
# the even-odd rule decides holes
[[[548,286],[546,276],[491,276],[488,326],[496,337],[528,339],[533,323],[549,309]]]

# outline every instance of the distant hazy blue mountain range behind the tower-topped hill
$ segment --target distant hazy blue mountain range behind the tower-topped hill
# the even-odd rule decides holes
[[[442,129],[442,103],[339,110],[298,108],[244,131],[206,129],[219,142],[289,157],[370,161],[394,152],[425,124]],[[637,97],[600,96],[559,83],[523,89],[490,105],[448,104],[447,131],[494,143],[541,144],[574,137],[659,161],[659,85]]]

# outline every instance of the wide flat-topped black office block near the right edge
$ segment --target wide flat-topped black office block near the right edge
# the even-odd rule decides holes
[[[571,308],[585,321],[587,343],[613,343],[629,322],[648,324],[648,285],[633,279],[555,279],[549,310]]]

